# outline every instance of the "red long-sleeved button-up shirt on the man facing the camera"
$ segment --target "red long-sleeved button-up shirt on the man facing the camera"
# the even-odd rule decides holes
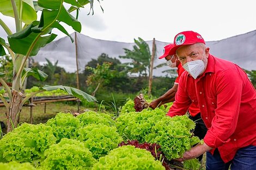
[[[205,72],[196,80],[182,74],[167,115],[184,115],[191,103],[198,103],[208,128],[204,142],[218,148],[224,162],[239,148],[256,146],[256,90],[239,66],[209,55]]]

